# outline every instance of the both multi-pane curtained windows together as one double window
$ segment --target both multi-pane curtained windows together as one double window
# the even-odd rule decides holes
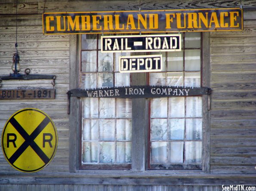
[[[141,76],[150,86],[204,85],[201,33],[182,33],[182,51],[151,53],[162,54],[162,72],[133,74],[118,72],[119,57],[130,53],[101,53],[100,36],[81,35],[80,88],[141,85]],[[132,148],[137,154],[147,153],[140,160],[148,169],[203,169],[204,96],[144,99],[148,103],[148,124],[139,128],[133,122],[136,115],[132,105],[138,103],[135,100],[82,98],[80,169],[131,169],[136,157]],[[136,107],[136,112],[145,112],[143,109]],[[133,141],[132,134],[144,130],[148,132],[146,141]],[[137,148],[136,144],[145,147]]]

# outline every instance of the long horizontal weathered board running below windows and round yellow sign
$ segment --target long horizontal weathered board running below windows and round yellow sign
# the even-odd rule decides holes
[[[162,175],[164,175],[163,173]],[[151,174],[151,176],[130,174],[130,176],[121,176],[114,172],[109,172],[105,176],[99,173],[90,174],[70,174],[63,173],[62,175],[55,174],[49,177],[49,174],[40,176],[36,173],[34,176],[22,175],[1,175],[1,184],[8,185],[255,185],[254,176],[233,176],[230,174],[223,176],[212,175],[185,175],[183,176],[160,176],[159,173]]]

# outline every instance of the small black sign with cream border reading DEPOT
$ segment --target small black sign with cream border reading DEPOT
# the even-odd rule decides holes
[[[119,72],[162,71],[162,55],[119,57]]]

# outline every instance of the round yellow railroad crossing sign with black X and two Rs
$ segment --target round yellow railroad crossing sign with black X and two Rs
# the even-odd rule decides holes
[[[57,131],[41,110],[25,108],[14,113],[3,128],[2,149],[6,160],[22,172],[46,167],[57,149]]]

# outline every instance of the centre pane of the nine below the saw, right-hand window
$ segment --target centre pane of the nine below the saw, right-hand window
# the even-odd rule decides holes
[[[183,140],[185,119],[169,119],[169,140]]]

